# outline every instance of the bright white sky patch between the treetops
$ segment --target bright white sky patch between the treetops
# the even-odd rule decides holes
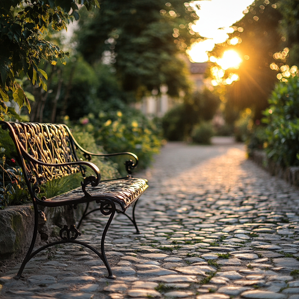
[[[199,20],[192,25],[192,30],[198,32],[206,40],[194,43],[187,54],[193,62],[208,61],[206,51],[211,51],[215,44],[225,42],[229,37],[228,33],[234,30],[232,24],[244,16],[245,10],[252,0],[202,0],[194,1],[200,9],[196,9]],[[221,28],[221,29],[220,29]]]

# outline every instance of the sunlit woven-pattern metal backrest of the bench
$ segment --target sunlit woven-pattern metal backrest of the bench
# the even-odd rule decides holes
[[[35,160],[59,164],[78,161],[74,144],[64,124],[1,122],[8,126],[25,168],[24,175],[38,184],[61,178],[80,171],[78,165],[47,167],[38,165]],[[32,159],[33,158],[33,159]]]

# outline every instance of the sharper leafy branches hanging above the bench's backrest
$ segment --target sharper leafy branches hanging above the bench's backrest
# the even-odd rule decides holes
[[[79,0],[87,10],[99,7],[97,0]],[[69,14],[68,12],[72,12]],[[27,75],[33,85],[42,85],[48,79],[39,68],[42,60],[55,65],[58,60],[65,63],[68,53],[61,51],[45,39],[51,24],[54,30],[66,29],[73,19],[78,20],[75,0],[1,0],[0,1],[0,118],[5,114],[18,117],[13,108],[4,102],[13,99],[20,107],[24,104],[30,112],[30,104],[16,77]],[[11,97],[10,97],[11,96]],[[3,115],[4,114],[4,115]]]

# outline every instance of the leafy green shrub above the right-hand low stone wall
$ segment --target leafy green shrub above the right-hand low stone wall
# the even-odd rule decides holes
[[[284,166],[299,165],[299,81],[298,76],[275,86],[263,114],[267,124],[268,157]]]

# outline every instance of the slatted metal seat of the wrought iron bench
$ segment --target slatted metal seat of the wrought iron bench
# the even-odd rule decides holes
[[[96,187],[86,186],[86,191],[92,198],[86,198],[82,187],[39,202],[44,206],[61,206],[95,200],[111,199],[125,211],[148,187],[146,179],[127,178],[111,181],[101,181]]]

